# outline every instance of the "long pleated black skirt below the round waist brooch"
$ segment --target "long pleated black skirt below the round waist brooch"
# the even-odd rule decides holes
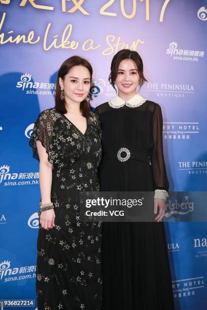
[[[151,166],[104,160],[102,191],[152,191]],[[102,229],[102,310],[173,310],[163,222],[105,222]]]

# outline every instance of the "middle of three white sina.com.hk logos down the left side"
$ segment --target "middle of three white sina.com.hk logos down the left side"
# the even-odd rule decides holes
[[[0,185],[36,185],[39,184],[39,172],[10,173],[10,166],[0,167]]]

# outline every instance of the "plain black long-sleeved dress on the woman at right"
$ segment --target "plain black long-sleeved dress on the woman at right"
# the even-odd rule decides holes
[[[168,190],[161,108],[148,100],[135,103],[96,108],[102,191]],[[121,148],[130,152],[126,161],[118,159]],[[103,223],[101,261],[103,310],[174,309],[163,222]]]

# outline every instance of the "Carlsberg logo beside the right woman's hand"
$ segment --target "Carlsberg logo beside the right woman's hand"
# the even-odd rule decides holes
[[[175,203],[172,203],[171,200],[168,200],[166,204],[166,213],[164,216],[169,218],[172,214],[181,214],[186,215],[189,212],[193,212],[194,203],[189,201],[189,197],[185,196],[185,202],[179,203],[178,200],[175,200]]]

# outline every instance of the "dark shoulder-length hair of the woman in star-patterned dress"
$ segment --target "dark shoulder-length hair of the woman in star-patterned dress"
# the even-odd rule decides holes
[[[60,85],[59,85],[59,78],[64,80],[65,75],[69,72],[71,68],[74,66],[83,66],[88,69],[90,72],[90,79],[92,80],[93,69],[91,64],[84,58],[79,56],[72,56],[66,59],[60,66],[58,74],[57,74],[57,81],[56,81],[56,93],[55,93],[55,108],[58,112],[65,114],[67,112],[65,107],[65,100],[60,99]],[[90,96],[90,95],[89,95]],[[85,99],[80,104],[80,110],[85,118],[89,117],[90,114],[90,103]]]

